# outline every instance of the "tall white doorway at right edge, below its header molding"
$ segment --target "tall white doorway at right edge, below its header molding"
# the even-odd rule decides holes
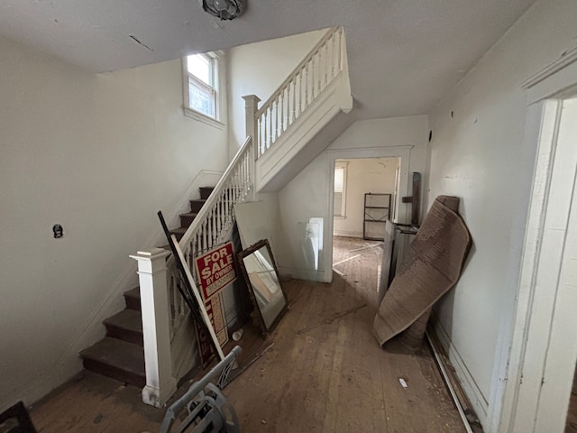
[[[530,107],[541,128],[501,431],[574,431],[565,424],[577,361],[575,95]]]

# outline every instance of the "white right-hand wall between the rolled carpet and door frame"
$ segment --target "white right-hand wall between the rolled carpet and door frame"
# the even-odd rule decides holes
[[[485,431],[496,431],[502,396],[495,390],[507,380],[536,153],[523,146],[520,84],[577,45],[575,17],[572,0],[537,2],[431,115],[429,202],[461,198],[473,240],[461,281],[436,310],[437,330]]]

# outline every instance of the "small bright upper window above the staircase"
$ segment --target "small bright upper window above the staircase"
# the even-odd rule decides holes
[[[185,112],[187,108],[218,120],[218,57],[212,53],[195,54],[183,61],[185,75]]]

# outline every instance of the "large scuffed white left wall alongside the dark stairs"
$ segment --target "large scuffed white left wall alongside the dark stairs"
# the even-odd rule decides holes
[[[156,212],[228,152],[225,130],[183,115],[180,60],[95,75],[2,38],[0,58],[2,408],[79,370]]]

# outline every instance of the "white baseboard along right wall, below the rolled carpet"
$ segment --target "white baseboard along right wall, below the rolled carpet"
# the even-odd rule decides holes
[[[467,368],[467,364],[465,364],[463,361],[463,358],[459,354],[457,348],[453,345],[451,338],[448,336],[439,320],[435,319],[435,317],[432,317],[431,322],[435,329],[436,336],[439,338],[445,353],[449,357],[449,363],[453,366],[457,375],[457,379],[463,387],[463,392],[465,392],[467,398],[469,401],[471,401],[472,407],[475,410],[477,417],[481,421],[481,425],[487,425],[486,422],[487,412],[489,410],[489,402],[481,392],[481,389],[477,386],[477,383]]]

